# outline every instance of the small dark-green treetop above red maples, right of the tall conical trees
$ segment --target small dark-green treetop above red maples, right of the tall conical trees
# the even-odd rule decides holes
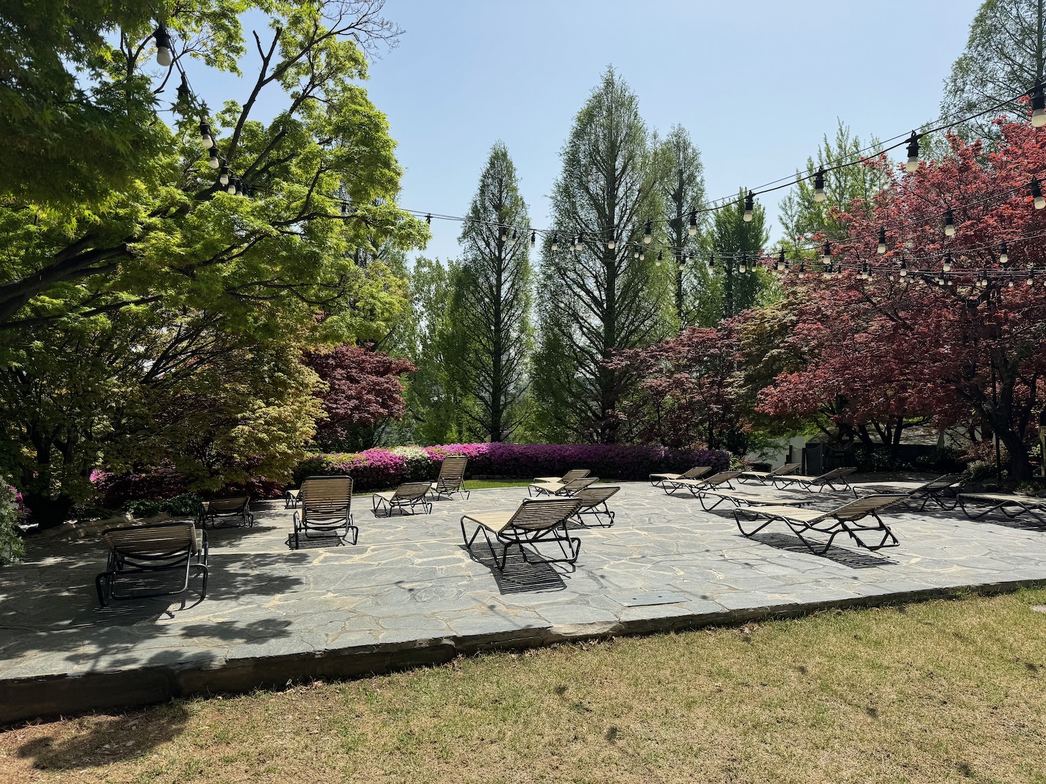
[[[717,286],[708,287],[706,296],[718,300],[714,309],[720,319],[732,318],[752,307],[759,295],[772,285],[769,274],[756,264],[769,238],[766,210],[754,202],[752,220],[745,221],[746,192],[742,188],[737,202],[715,211],[706,238],[710,252],[719,257],[715,272],[721,276]]]

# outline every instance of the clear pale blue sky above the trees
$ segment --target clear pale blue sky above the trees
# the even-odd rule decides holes
[[[639,96],[651,128],[680,123],[690,132],[708,195],[726,197],[803,166],[837,117],[862,140],[935,118],[979,5],[388,0],[385,15],[405,32],[372,63],[367,89],[399,142],[403,207],[463,214],[500,139],[531,224],[543,228],[560,149],[607,66]],[[191,79],[200,66],[188,67]],[[249,72],[250,57],[243,67]],[[214,107],[243,92],[224,76],[192,84]],[[274,114],[277,101],[264,95],[260,114]],[[780,233],[776,201],[765,202],[773,238]],[[433,221],[425,255],[454,257],[459,228]]]

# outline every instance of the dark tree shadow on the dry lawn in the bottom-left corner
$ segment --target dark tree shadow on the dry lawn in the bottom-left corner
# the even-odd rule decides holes
[[[178,737],[191,714],[174,702],[118,716],[91,716],[87,727],[58,738],[50,727],[30,729],[35,737],[15,752],[37,770],[72,770],[123,762]],[[51,725],[53,727],[53,725]],[[39,734],[38,734],[39,733]]]

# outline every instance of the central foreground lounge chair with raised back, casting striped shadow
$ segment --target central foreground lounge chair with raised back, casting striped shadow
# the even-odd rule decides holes
[[[581,508],[581,502],[575,498],[523,499],[523,503],[513,512],[483,512],[461,515],[461,537],[464,539],[465,549],[472,552],[473,543],[482,531],[486,545],[491,548],[491,556],[497,563],[497,553],[494,550],[494,541],[491,539],[493,535],[504,547],[501,553],[501,563],[498,564],[502,571],[505,569],[508,548],[513,545],[520,549],[523,560],[529,562],[526,550],[523,548],[524,545],[536,546],[540,543],[554,541],[563,552],[563,557],[542,556],[543,560],[549,563],[573,563],[581,553],[582,540],[570,535],[567,520],[578,508]],[[476,530],[473,531],[471,537],[464,528],[465,521],[476,524]]]

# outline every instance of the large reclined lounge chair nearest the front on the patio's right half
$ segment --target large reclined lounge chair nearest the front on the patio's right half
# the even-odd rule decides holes
[[[893,531],[879,516],[879,512],[893,504],[900,504],[907,500],[908,493],[880,493],[876,495],[865,495],[864,498],[850,501],[831,511],[819,509],[798,509],[794,506],[750,506],[736,507],[733,510],[733,517],[737,523],[737,530],[745,536],[753,536],[769,526],[771,523],[783,523],[792,533],[799,537],[799,540],[814,553],[814,555],[824,555],[832,547],[832,541],[841,533],[847,534],[858,547],[866,550],[880,550],[884,547],[896,547],[901,543],[893,535]],[[755,528],[746,531],[742,525],[742,517],[747,523],[759,523]],[[874,524],[861,524],[865,517],[873,517]],[[879,543],[866,543],[859,534],[881,533]],[[820,548],[815,548],[804,534],[824,533],[828,535],[828,540]]]

